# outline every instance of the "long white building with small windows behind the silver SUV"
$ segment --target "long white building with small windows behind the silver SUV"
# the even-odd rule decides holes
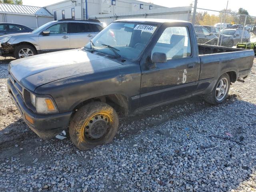
[[[86,19],[97,14],[130,13],[138,10],[165,8],[137,0],[65,0],[45,7],[55,20]]]

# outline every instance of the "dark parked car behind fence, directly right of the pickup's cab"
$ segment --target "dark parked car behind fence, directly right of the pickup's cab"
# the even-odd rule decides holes
[[[199,44],[217,45],[218,37],[203,26],[195,25],[196,39]]]

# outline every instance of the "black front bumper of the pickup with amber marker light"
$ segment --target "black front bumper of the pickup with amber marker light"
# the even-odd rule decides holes
[[[10,97],[20,112],[23,120],[40,138],[52,138],[62,130],[68,128],[72,112],[46,115],[36,114],[26,106],[21,94],[12,84],[10,79],[8,79],[7,87]]]

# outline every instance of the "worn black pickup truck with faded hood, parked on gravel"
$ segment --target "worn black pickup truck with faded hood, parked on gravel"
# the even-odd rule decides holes
[[[84,48],[12,61],[8,91],[41,138],[69,129],[81,150],[111,142],[128,115],[194,95],[223,102],[253,50],[198,45],[190,22],[116,20]]]

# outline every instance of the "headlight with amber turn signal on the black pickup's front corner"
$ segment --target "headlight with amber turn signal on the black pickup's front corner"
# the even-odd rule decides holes
[[[38,97],[30,93],[30,102],[36,108],[37,113],[58,112],[54,102],[49,97]]]

